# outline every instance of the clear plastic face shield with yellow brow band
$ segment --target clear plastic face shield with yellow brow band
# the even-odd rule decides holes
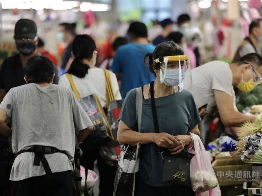
[[[184,89],[192,92],[192,75],[189,56],[164,56],[154,60],[161,63],[159,77],[161,84],[178,86],[179,92]]]

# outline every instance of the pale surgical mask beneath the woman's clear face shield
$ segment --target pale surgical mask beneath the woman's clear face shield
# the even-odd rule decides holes
[[[181,71],[181,72],[180,72]],[[166,86],[176,86],[185,78],[185,70],[184,69],[166,69],[166,77],[164,79],[164,84]]]

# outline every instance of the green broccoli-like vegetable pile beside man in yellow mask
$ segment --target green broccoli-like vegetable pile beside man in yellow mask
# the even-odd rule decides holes
[[[257,104],[262,104],[262,83],[257,85],[252,91],[242,92],[236,103],[236,107],[239,112],[243,112],[246,107]]]

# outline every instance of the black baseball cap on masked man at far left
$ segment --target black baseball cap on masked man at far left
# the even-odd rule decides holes
[[[29,19],[20,19],[15,23],[14,39],[35,39],[36,35],[37,27],[34,21]]]

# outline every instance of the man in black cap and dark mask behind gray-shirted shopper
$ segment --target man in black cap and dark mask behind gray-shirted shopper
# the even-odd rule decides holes
[[[27,59],[41,55],[36,51],[37,27],[34,21],[20,19],[14,27],[14,40],[19,54],[5,59],[0,68],[0,103],[11,88],[26,84],[23,66]],[[54,65],[53,65],[54,66]],[[58,84],[58,71],[54,66],[53,84]],[[6,189],[6,153],[8,140],[0,134],[0,195]]]

